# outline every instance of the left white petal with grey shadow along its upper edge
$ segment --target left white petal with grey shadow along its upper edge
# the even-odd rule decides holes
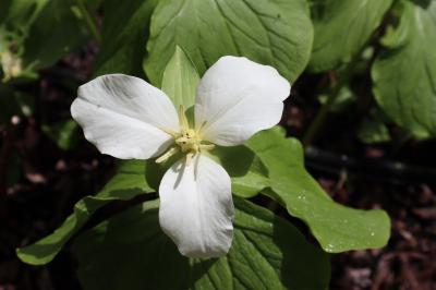
[[[161,129],[179,130],[175,108],[167,95],[123,74],[99,76],[82,85],[71,114],[101,153],[122,159],[161,154],[172,142]]]

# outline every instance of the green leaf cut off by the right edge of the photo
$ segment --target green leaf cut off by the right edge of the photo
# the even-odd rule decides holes
[[[436,1],[399,1],[400,23],[372,69],[382,109],[416,137],[436,136]]]

